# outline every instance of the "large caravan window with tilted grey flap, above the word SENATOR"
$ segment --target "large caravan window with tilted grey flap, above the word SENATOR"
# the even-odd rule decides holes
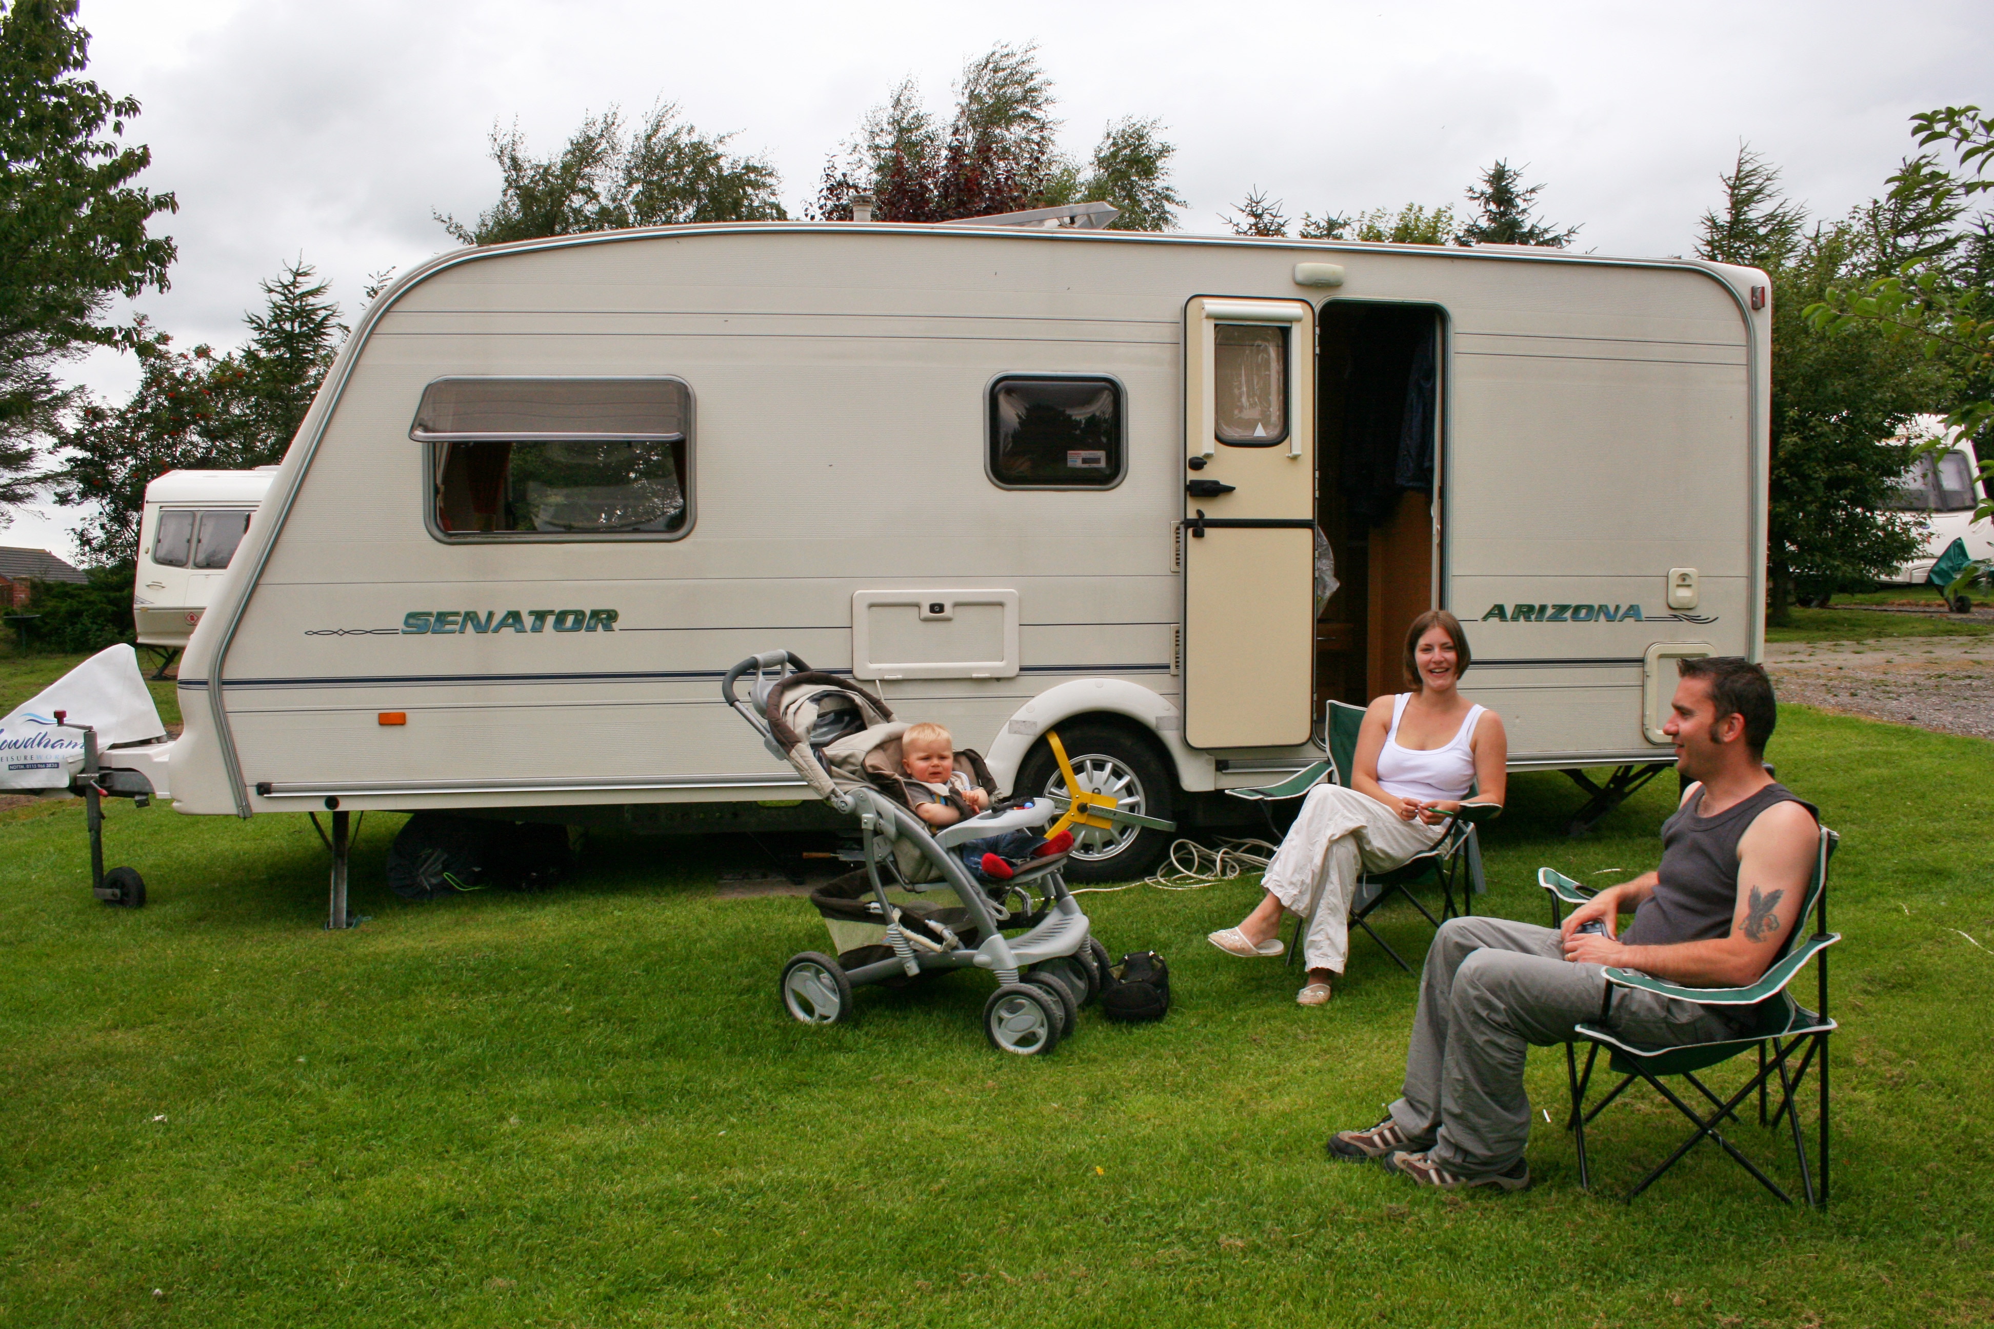
[[[429,444],[445,540],[674,540],[690,416],[678,379],[439,379],[409,434]]]

